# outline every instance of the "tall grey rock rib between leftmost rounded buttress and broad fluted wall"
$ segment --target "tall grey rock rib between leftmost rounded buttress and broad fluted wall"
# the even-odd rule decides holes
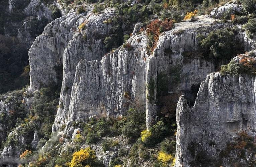
[[[88,13],[79,19],[73,39],[63,53],[63,80],[60,95],[60,106],[55,122],[60,122],[69,111],[72,86],[75,82],[76,66],[81,59],[98,60],[105,55],[106,50],[103,40],[111,33],[111,24],[105,22],[115,16],[113,9],[106,10],[103,14],[93,15]],[[63,116],[64,115],[64,116]],[[63,117],[62,117],[63,116]],[[53,128],[54,129],[54,128]]]

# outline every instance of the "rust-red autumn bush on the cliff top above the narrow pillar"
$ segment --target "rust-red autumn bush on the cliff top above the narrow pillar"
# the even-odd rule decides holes
[[[159,39],[160,33],[163,31],[170,30],[171,28],[172,28],[172,20],[169,21],[168,19],[165,19],[164,21],[155,19],[147,25],[146,32],[152,43],[151,51],[156,47],[156,43]]]

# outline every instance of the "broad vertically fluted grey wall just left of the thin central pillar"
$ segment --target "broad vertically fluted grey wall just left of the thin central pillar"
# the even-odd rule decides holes
[[[81,60],[76,68],[69,110],[62,114],[58,110],[53,126],[57,129],[64,124],[70,128],[73,121],[81,122],[92,115],[121,116],[130,105],[145,107],[143,57],[147,57],[147,42],[144,40],[148,40],[144,34],[138,35],[130,41],[132,50],[120,47],[101,61]]]

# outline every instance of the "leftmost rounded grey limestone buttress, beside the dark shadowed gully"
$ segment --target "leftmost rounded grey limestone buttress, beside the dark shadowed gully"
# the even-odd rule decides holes
[[[57,18],[48,24],[29,50],[30,86],[36,90],[57,83],[57,67],[62,66],[63,52],[72,39],[78,19],[76,13]],[[61,69],[60,69],[61,71]]]

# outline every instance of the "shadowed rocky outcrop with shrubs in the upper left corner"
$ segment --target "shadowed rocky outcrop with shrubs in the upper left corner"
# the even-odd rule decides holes
[[[42,31],[47,22],[49,23],[54,19],[49,7],[51,4],[46,5],[40,0],[31,0],[30,2],[24,2],[27,6],[23,5],[24,7],[21,8],[19,3],[21,2],[8,1],[8,11],[6,11],[8,17],[5,18],[8,22],[4,25],[5,35],[17,37],[18,41],[22,41],[29,49],[35,40],[35,35],[39,35],[34,34],[34,32]],[[52,2],[52,5],[55,5],[55,1]]]

